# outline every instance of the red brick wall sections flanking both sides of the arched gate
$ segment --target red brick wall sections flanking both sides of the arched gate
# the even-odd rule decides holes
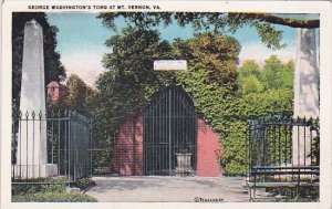
[[[221,175],[218,156],[219,136],[203,118],[197,119],[197,176]],[[111,158],[111,171],[121,176],[143,175],[143,117],[126,117],[120,126],[117,143]]]

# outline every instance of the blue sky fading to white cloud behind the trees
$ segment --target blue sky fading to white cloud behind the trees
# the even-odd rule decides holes
[[[77,74],[90,86],[93,86],[96,77],[105,71],[101,63],[103,54],[112,52],[105,46],[105,41],[112,35],[120,34],[106,29],[102,24],[102,19],[96,17],[97,13],[84,12],[48,13],[49,23],[59,29],[56,51],[61,55],[68,76],[72,73]],[[125,22],[118,20],[116,24],[121,29]],[[230,34],[242,45],[239,54],[240,63],[243,60],[256,60],[262,64],[272,54],[282,61],[295,59],[295,29],[276,27],[283,31],[282,42],[286,43],[286,48],[277,51],[263,45],[253,28],[243,27],[237,33]],[[176,38],[191,38],[194,33],[190,27],[180,28],[176,24],[160,27],[159,31],[162,39],[169,42]]]

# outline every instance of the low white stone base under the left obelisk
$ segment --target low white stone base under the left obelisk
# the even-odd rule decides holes
[[[19,179],[48,178],[56,175],[56,164],[13,165],[11,168],[11,177]]]

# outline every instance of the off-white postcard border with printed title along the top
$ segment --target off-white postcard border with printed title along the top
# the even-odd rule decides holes
[[[193,11],[193,12],[273,12],[273,13],[320,13],[321,27],[320,27],[320,73],[321,73],[321,191],[320,202],[281,202],[281,203],[257,203],[257,202],[225,202],[225,203],[12,203],[11,202],[11,180],[10,180],[10,146],[11,146],[11,12],[12,11],[31,11],[28,10],[29,4],[158,4],[162,11]],[[68,10],[33,10],[43,12],[64,12]],[[75,10],[79,11],[79,10]],[[85,12],[96,12],[96,10],[84,10]],[[120,10],[113,10],[120,11]],[[125,10],[129,11],[129,10]],[[139,10],[135,10],[139,11]],[[331,145],[332,145],[332,121],[331,121],[331,107],[332,107],[332,33],[331,33],[331,2],[329,1],[6,1],[2,6],[1,19],[2,19],[2,65],[1,65],[1,208],[70,208],[77,206],[80,209],[90,209],[92,207],[97,208],[132,208],[132,207],[151,207],[151,208],[304,208],[304,209],[328,209],[332,208],[331,199]],[[32,12],[32,11],[31,11]],[[100,12],[100,11],[97,11]]]

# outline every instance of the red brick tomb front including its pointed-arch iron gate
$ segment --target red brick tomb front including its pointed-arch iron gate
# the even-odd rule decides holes
[[[196,114],[189,95],[167,86],[123,119],[110,167],[121,176],[216,177],[221,175],[220,154],[219,136]]]

